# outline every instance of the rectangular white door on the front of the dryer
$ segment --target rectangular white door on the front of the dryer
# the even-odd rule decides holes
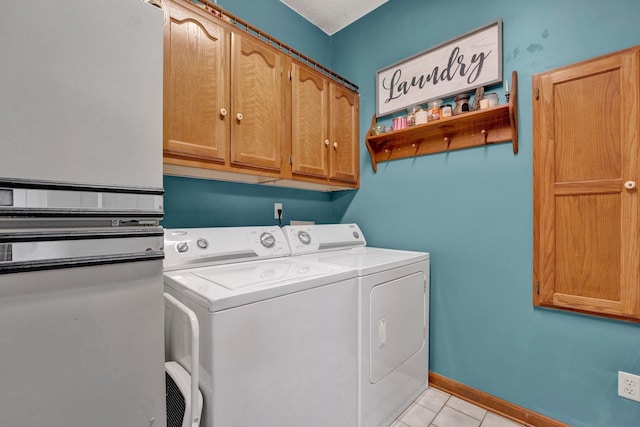
[[[422,271],[371,290],[369,381],[377,383],[425,345],[426,285]]]

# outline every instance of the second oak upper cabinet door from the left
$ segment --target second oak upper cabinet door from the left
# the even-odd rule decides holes
[[[251,36],[231,35],[231,164],[279,171],[286,57]]]

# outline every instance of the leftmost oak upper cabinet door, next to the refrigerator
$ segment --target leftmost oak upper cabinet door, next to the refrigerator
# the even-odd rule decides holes
[[[225,30],[187,3],[166,1],[164,153],[224,163],[229,79]]]

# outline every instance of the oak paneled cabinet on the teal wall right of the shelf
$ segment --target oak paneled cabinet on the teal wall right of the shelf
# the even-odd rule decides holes
[[[640,320],[639,52],[533,77],[536,305]]]

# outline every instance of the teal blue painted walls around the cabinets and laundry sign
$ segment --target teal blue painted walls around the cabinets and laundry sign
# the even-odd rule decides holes
[[[500,144],[374,174],[361,138],[360,190],[331,195],[167,177],[166,224],[272,224],[281,200],[271,199],[284,198],[285,212],[291,203],[309,216],[289,218],[353,221],[371,245],[427,250],[432,371],[575,427],[640,426],[640,403],[616,391],[618,370],[640,374],[640,326],[531,303],[531,76],[640,44],[640,3],[391,0],[332,37],[279,0],[220,3],[358,84],[362,135],[376,70],[502,18],[504,72],[520,79],[520,152]]]

